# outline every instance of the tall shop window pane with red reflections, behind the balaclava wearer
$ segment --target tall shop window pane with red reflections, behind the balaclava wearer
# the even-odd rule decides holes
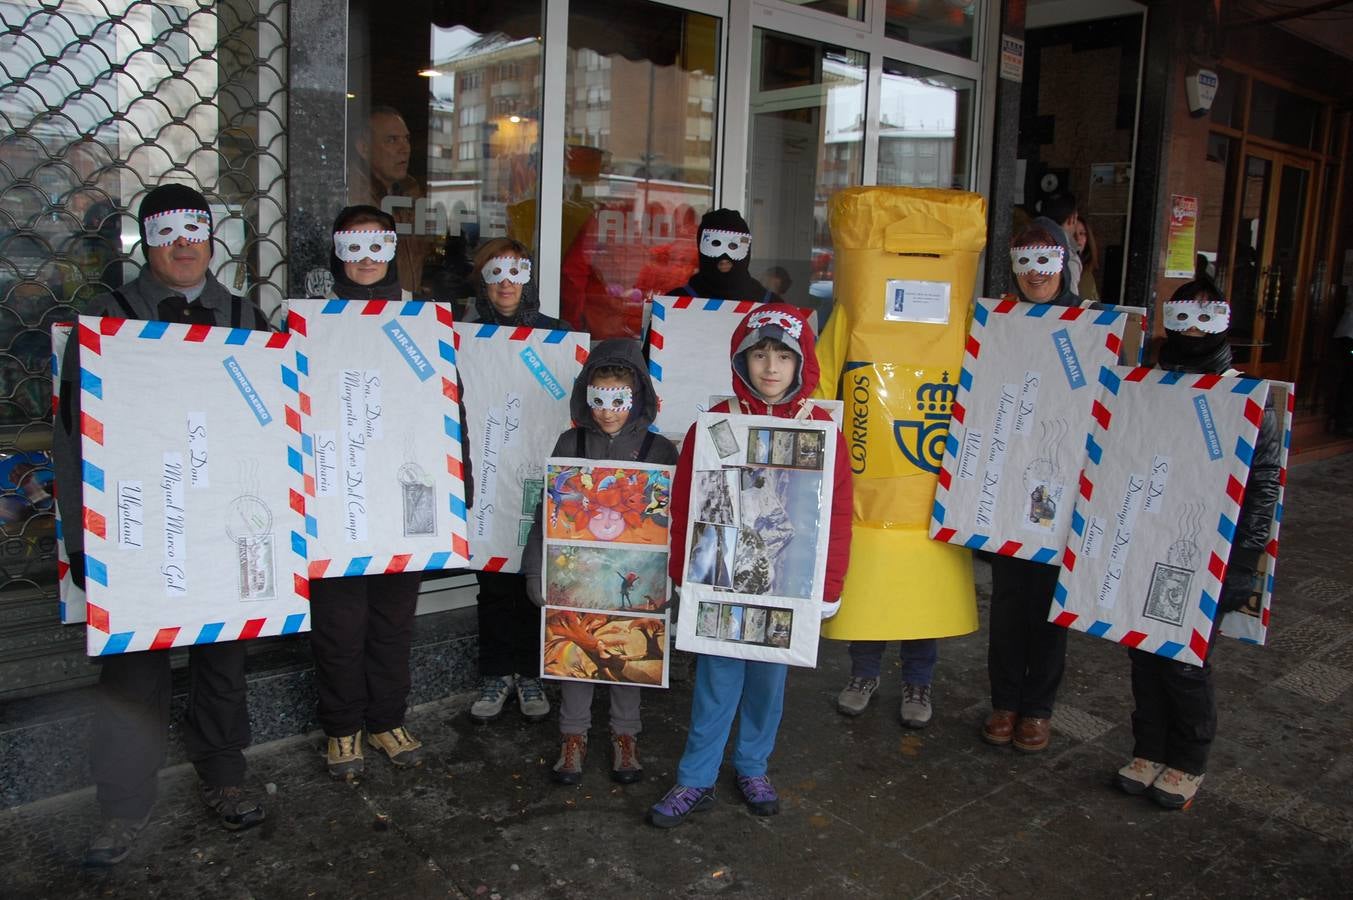
[[[695,272],[718,27],[644,0],[570,3],[560,314],[593,340],[639,337],[644,298]]]

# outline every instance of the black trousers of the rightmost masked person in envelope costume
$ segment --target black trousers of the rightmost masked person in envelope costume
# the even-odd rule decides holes
[[[1145,650],[1127,655],[1132,660],[1132,755],[1201,775],[1216,738],[1212,654],[1201,666]]]

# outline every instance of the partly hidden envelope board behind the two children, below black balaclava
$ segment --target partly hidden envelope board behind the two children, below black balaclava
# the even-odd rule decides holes
[[[732,391],[728,342],[743,317],[763,303],[655,296],[648,322],[648,374],[658,391],[658,430],[682,440],[700,413]],[[712,365],[714,361],[725,360]],[[716,398],[712,401],[712,398]]]

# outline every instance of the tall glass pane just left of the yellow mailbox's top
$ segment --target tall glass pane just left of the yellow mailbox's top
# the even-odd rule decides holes
[[[758,28],[747,166],[752,275],[789,273],[786,300],[832,300],[831,196],[859,184],[865,162],[869,55]]]

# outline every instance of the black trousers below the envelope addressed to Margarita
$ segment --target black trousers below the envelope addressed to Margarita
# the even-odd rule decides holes
[[[405,724],[421,582],[422,572],[399,572],[310,583],[319,727],[330,738]]]

